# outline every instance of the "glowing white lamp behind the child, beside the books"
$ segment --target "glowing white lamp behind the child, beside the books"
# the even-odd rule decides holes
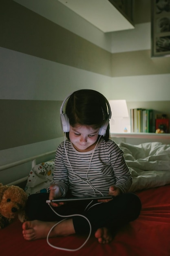
[[[130,131],[130,118],[126,100],[110,100],[112,117],[110,119],[110,132],[128,132]]]

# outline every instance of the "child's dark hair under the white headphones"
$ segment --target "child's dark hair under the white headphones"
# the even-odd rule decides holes
[[[95,90],[78,90],[73,92],[66,103],[66,115],[69,119],[69,124],[93,126],[100,128],[108,119],[108,107],[106,98]],[[69,139],[69,132],[66,132],[66,137]],[[106,141],[110,139],[109,125],[106,134],[102,136]]]

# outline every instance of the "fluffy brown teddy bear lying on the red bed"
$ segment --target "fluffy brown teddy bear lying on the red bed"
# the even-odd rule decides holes
[[[27,195],[19,186],[0,183],[0,229],[9,225],[15,218],[26,220],[25,206]]]

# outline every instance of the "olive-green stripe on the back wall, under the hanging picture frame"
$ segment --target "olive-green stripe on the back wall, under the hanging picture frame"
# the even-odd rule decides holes
[[[112,76],[169,74],[170,58],[150,57],[150,50],[112,54]]]

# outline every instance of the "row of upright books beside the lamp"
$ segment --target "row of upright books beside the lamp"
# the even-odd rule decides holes
[[[131,132],[155,132],[154,111],[152,109],[130,109]]]

